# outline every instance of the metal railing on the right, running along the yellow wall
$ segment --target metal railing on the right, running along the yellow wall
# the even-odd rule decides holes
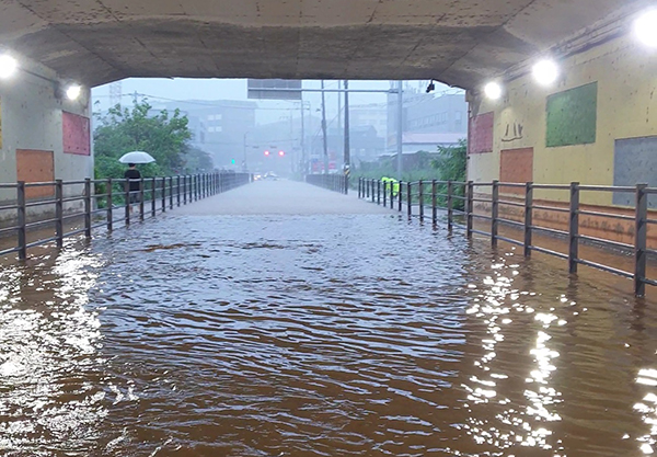
[[[427,192],[427,185],[430,190]],[[475,188],[486,188],[485,197],[477,195],[475,197]],[[518,198],[523,202],[509,202],[500,199],[500,188],[511,187],[523,190],[518,194]],[[445,192],[438,192],[439,188]],[[533,203],[534,190],[550,190],[568,192],[568,207],[537,205]],[[516,191],[517,192],[517,191]],[[611,192],[611,193],[633,193],[635,194],[636,205],[634,216],[600,213],[581,209],[580,194],[583,192]],[[419,219],[425,219],[425,206],[429,201],[428,206],[431,208],[431,220],[437,225],[437,212],[447,210],[448,228],[451,230],[454,225],[454,214],[462,215],[465,218],[465,232],[469,238],[473,233],[491,237],[491,244],[495,248],[499,240],[510,242],[523,248],[525,256],[531,256],[533,251],[564,259],[568,262],[568,271],[576,273],[578,265],[587,265],[597,270],[612,273],[622,277],[627,277],[634,281],[634,292],[636,296],[643,297],[646,293],[646,285],[657,285],[657,281],[650,279],[647,276],[647,255],[657,254],[657,250],[647,248],[647,228],[650,224],[657,224],[657,219],[648,218],[648,194],[656,194],[657,188],[650,188],[647,184],[637,184],[635,187],[629,186],[599,186],[599,185],[580,185],[577,182],[570,184],[534,184],[529,183],[502,183],[499,181],[474,183],[456,182],[456,181],[415,181],[415,182],[384,182],[380,180],[370,180],[360,178],[358,180],[358,197],[371,201],[384,206],[390,203],[390,208],[394,208],[396,199],[397,210],[402,212],[404,203],[408,217],[413,217],[413,207],[419,207]],[[508,198],[508,197],[507,197]],[[443,205],[439,205],[438,201]],[[454,205],[454,202],[463,202],[463,210],[460,210]],[[474,204],[484,203],[489,205],[489,216],[475,214]],[[509,206],[521,208],[523,220],[509,220],[499,217],[500,206]],[[549,213],[567,214],[568,230],[556,230],[549,227],[535,226],[533,222],[533,212],[544,210]],[[579,216],[613,218],[634,222],[634,244],[622,243],[612,240],[606,240],[596,237],[589,237],[579,233]],[[489,224],[489,231],[474,229],[474,220],[481,219]],[[514,240],[499,235],[499,225],[515,227],[523,232],[522,240]],[[533,244],[534,232],[544,232],[553,236],[565,238],[568,244],[568,252],[562,253],[545,249]],[[591,262],[579,258],[579,245],[581,241],[593,242],[608,248],[623,249],[634,252],[634,271],[625,272],[614,269],[610,265]]]

